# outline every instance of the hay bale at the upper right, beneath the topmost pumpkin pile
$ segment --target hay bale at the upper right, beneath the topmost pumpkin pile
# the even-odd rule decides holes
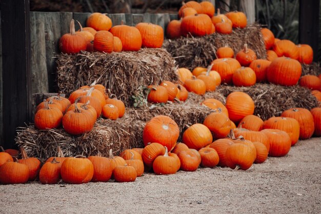
[[[244,43],[252,49],[257,59],[266,59],[266,50],[260,32],[260,25],[253,24],[244,29],[233,29],[231,34],[214,33],[207,36],[178,38],[166,40],[163,47],[172,54],[179,67],[194,69],[197,66],[207,67],[216,59],[216,50],[228,45],[236,54],[242,50]]]

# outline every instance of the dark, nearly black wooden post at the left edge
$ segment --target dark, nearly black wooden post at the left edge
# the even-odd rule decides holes
[[[31,121],[29,0],[1,1],[3,146],[14,147],[16,128]]]

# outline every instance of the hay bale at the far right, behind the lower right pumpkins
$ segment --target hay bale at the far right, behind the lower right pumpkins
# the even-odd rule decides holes
[[[318,106],[318,101],[311,91],[300,86],[284,87],[273,84],[255,84],[251,87],[234,87],[222,85],[216,90],[224,96],[233,91],[243,91],[251,96],[255,104],[254,114],[262,120],[279,116],[289,108],[307,108]]]

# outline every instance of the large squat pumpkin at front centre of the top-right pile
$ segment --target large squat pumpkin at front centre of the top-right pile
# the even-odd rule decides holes
[[[180,24],[183,36],[191,33],[193,36],[204,36],[211,34],[212,21],[208,15],[195,14],[183,18]]]

